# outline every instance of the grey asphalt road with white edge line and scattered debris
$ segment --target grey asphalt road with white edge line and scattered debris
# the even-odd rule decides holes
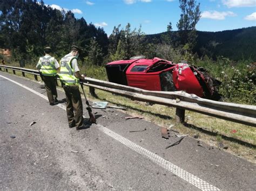
[[[174,132],[165,140],[159,126],[114,109],[94,109],[97,125],[69,129],[65,107],[45,96],[37,82],[0,72],[0,190],[256,188],[244,159],[191,137],[166,149],[180,139]]]

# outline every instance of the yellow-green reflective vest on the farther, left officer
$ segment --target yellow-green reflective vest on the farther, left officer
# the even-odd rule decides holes
[[[39,66],[41,66],[41,72],[44,76],[56,76],[57,71],[54,66],[54,57],[43,56],[39,58]]]

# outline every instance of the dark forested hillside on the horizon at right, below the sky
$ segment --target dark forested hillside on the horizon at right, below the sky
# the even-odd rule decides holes
[[[146,36],[149,43],[164,43],[159,34]],[[215,59],[224,56],[231,60],[252,59],[256,61],[256,26],[219,32],[197,31],[197,45],[194,52],[199,56],[208,55]],[[177,40],[177,31],[171,33],[173,42]]]

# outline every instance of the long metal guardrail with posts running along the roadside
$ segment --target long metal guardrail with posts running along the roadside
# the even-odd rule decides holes
[[[35,80],[37,80],[37,76],[39,75],[37,70],[26,68],[0,65],[0,70],[2,69],[6,72],[8,72],[8,69],[11,69],[14,74],[15,71],[19,71],[22,72],[23,76],[25,76],[25,73],[33,74],[35,76]],[[194,94],[187,94],[184,91],[148,91],[123,86],[117,83],[92,79],[90,77],[85,77],[83,84],[85,86],[89,86],[91,94],[95,94],[96,88],[129,97],[133,100],[175,107],[177,108],[176,122],[180,123],[184,122],[185,110],[190,110],[200,114],[225,119],[227,121],[237,122],[254,127],[256,126],[256,106],[254,105],[206,100]]]

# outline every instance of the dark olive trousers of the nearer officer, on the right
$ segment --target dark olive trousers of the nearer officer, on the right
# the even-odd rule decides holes
[[[79,91],[79,86],[63,86],[66,94],[66,114],[70,126],[80,128],[83,126],[83,103]],[[75,113],[75,115],[74,115]]]

